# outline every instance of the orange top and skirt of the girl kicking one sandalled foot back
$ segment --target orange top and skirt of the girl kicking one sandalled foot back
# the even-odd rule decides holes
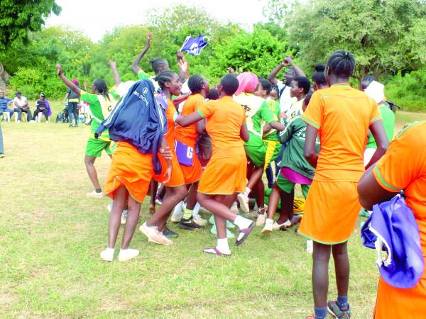
[[[209,101],[198,113],[207,118],[207,133],[212,137],[212,158],[202,174],[198,191],[203,194],[231,195],[246,191],[247,159],[240,138],[246,114],[231,96]]]

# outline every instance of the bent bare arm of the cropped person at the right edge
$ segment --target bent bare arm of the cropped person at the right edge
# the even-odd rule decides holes
[[[374,204],[388,201],[396,194],[396,192],[383,189],[378,184],[376,177],[373,175],[374,167],[375,165],[369,167],[358,183],[359,202],[368,211],[371,211]]]

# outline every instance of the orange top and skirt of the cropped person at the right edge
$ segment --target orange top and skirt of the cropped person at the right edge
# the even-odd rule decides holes
[[[403,189],[405,203],[413,210],[426,257],[426,122],[413,123],[389,145],[373,169],[383,189]],[[426,273],[416,286],[399,289],[380,279],[374,318],[420,319],[426,316]]]

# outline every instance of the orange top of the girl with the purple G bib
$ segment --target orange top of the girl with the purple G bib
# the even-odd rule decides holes
[[[198,110],[200,106],[204,104],[204,97],[201,94],[194,94],[187,98],[185,104],[182,108],[182,116],[188,116],[191,113]],[[195,144],[197,143],[198,133],[195,130],[195,123],[187,126],[186,128],[182,128],[179,124],[176,125],[175,128],[175,139],[183,144],[195,148]]]

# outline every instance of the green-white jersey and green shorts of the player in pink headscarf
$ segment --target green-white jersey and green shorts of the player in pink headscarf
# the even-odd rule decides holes
[[[266,146],[262,140],[263,125],[278,121],[278,118],[271,111],[268,102],[259,96],[243,92],[234,96],[234,101],[240,103],[246,110],[247,128],[250,135],[249,142],[244,142],[246,155],[256,167],[260,167],[266,157]]]

